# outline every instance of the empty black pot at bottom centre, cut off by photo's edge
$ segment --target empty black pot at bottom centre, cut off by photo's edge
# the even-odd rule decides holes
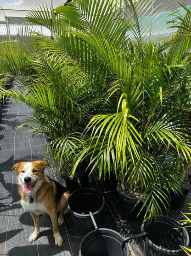
[[[112,229],[91,231],[80,244],[79,256],[129,256],[128,244],[122,249],[123,241],[124,238]]]

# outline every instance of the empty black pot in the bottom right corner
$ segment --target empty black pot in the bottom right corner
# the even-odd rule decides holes
[[[185,228],[181,227],[181,223],[163,216],[159,220],[148,223],[146,218],[141,225],[141,232],[147,232],[145,238],[146,255],[148,256],[181,256],[183,251],[180,245],[188,246],[189,234]]]

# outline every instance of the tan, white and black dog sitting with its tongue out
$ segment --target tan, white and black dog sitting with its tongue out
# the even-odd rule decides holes
[[[22,207],[25,211],[30,212],[34,220],[35,229],[28,238],[28,242],[33,242],[39,236],[39,215],[49,214],[55,244],[61,247],[63,240],[58,225],[63,225],[63,215],[68,212],[69,191],[45,175],[44,170],[47,166],[50,164],[45,161],[19,162],[12,169],[18,173],[17,185]],[[60,212],[58,220],[57,212]]]

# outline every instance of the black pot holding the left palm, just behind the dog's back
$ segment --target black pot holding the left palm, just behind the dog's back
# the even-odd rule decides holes
[[[64,180],[64,185],[67,189],[72,193],[75,190],[80,188],[80,184],[82,188],[87,188],[89,186],[89,176],[87,173],[83,173],[73,179],[70,179],[70,176],[62,174],[62,179]]]

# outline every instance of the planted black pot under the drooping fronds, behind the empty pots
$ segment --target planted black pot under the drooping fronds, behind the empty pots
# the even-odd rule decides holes
[[[138,202],[139,198],[127,196],[119,187],[117,187],[117,191],[120,198],[120,209],[127,220],[133,221],[140,219],[143,215],[143,211],[139,214],[143,202]],[[138,214],[139,216],[137,216]]]

